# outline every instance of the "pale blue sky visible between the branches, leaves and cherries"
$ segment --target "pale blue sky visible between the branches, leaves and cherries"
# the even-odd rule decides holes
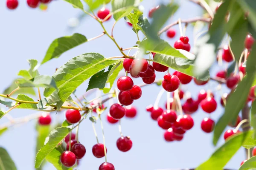
[[[144,0],[141,4],[145,7],[145,15],[148,15],[149,8],[161,2],[166,3],[169,1]],[[179,17],[181,19],[188,19],[201,15],[201,8],[197,5],[187,0],[179,0],[178,2],[180,4],[179,10],[166,24],[172,23]],[[50,3],[47,11],[31,9],[27,6],[25,0],[19,0],[19,3],[17,10],[10,11],[6,8],[5,0],[0,2],[1,91],[8,87],[12,80],[17,77],[17,73],[21,69],[29,68],[27,59],[37,59],[41,62],[47,48],[55,38],[80,33],[89,39],[102,33],[99,23],[90,17],[86,17],[77,28],[73,30],[67,29],[67,21],[71,17],[78,16],[80,13],[79,9],[73,8],[69,3],[62,0],[55,0]],[[111,31],[113,22],[114,20],[112,18],[104,23],[108,31]],[[178,26],[174,28],[177,31],[174,39],[167,39],[166,34],[162,35],[162,38],[167,40],[170,45],[173,45],[179,37]],[[192,31],[192,26],[189,26],[186,32],[191,45],[193,45]],[[136,34],[134,34],[131,27],[123,19],[119,20],[116,24],[113,35],[123,48],[131,47],[137,41]],[[140,37],[143,38],[141,34]],[[69,59],[88,52],[97,52],[105,57],[121,55],[114,43],[107,36],[103,36],[67,51],[58,59],[52,59],[50,62],[42,65],[39,68],[39,72],[41,74],[52,75],[55,72],[55,68],[60,67]],[[205,55],[207,57],[207,54]],[[218,65],[215,64],[215,68],[211,70],[211,75],[215,75],[219,69]],[[171,73],[173,72],[172,70]],[[163,75],[163,73],[157,73],[157,79],[161,79]],[[141,83],[141,79],[134,79],[134,84]],[[216,85],[215,82],[210,82],[207,85],[198,87],[194,82],[190,82],[189,85],[182,85],[182,89],[184,91],[190,91],[192,97],[197,99],[197,94],[201,89],[214,89]],[[77,96],[84,94],[86,88],[87,82],[84,82],[78,88],[76,92]],[[106,122],[105,115],[107,112],[102,116],[105,127],[106,146],[108,148],[108,161],[114,164],[116,170],[162,170],[197,167],[203,161],[207,160],[215,150],[215,147],[212,145],[212,133],[207,134],[201,130],[201,120],[209,116],[201,108],[192,115],[195,125],[192,130],[186,132],[181,142],[165,142],[163,139],[164,130],[158,127],[157,122],[153,121],[150,114],[145,111],[147,105],[154,104],[160,89],[161,87],[157,87],[156,85],[144,87],[142,97],[134,101],[133,104],[138,110],[137,117],[135,119],[122,119],[122,132],[125,136],[130,136],[133,141],[133,147],[127,153],[120,152],[116,147],[116,140],[120,137],[118,125],[110,125]],[[229,91],[226,87],[222,89],[223,92]],[[213,93],[218,102],[218,108],[211,114],[211,118],[217,121],[218,117],[223,114],[223,108],[219,104],[221,92],[213,91]],[[95,94],[91,95],[89,99],[93,99],[94,97]],[[34,97],[34,99],[37,99],[37,97]],[[162,96],[159,105],[164,107],[165,102],[166,94]],[[13,118],[18,118],[32,113],[35,113],[35,111],[13,110],[9,114]],[[64,113],[58,115],[60,115],[59,117],[63,121]],[[54,122],[56,122],[56,117],[53,114],[52,119]],[[1,119],[0,125],[7,121],[8,119],[6,118]],[[6,148],[15,161],[18,170],[34,169],[36,122],[34,120],[27,124],[12,127],[0,136],[0,147]],[[96,124],[96,130],[100,142],[103,142],[99,123]],[[80,166],[76,169],[98,170],[99,165],[105,159],[97,159],[92,154],[92,146],[96,144],[96,139],[89,119],[80,125],[79,141],[84,144],[87,153],[80,161]],[[221,136],[218,145],[223,143],[224,139]],[[244,159],[244,149],[241,148],[226,167],[238,169],[241,161]],[[54,170],[55,168],[52,164],[47,164],[44,169]]]

